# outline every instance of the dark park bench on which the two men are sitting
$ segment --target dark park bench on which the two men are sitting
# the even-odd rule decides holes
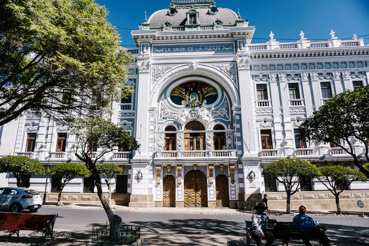
[[[247,240],[247,246],[250,246],[251,244],[251,239],[254,237],[254,234],[252,233],[254,231],[254,229],[252,229],[252,221],[245,221],[246,224],[246,240]],[[287,228],[289,230],[289,234],[290,237],[289,239],[283,238],[282,235],[276,235],[276,233],[274,232],[274,228],[276,226],[281,226],[282,228]],[[297,230],[297,228],[295,228],[292,225],[292,222],[277,222],[277,225],[274,225],[273,222],[268,221],[268,230],[270,232],[272,232],[275,236],[275,239],[280,239],[282,240],[282,246],[284,244],[286,244],[286,246],[288,246],[288,241],[289,240],[302,240],[300,237],[300,231]],[[324,232],[322,230],[322,232]],[[319,239],[319,238],[311,238],[311,239]],[[321,242],[319,240],[319,246],[321,245]]]

